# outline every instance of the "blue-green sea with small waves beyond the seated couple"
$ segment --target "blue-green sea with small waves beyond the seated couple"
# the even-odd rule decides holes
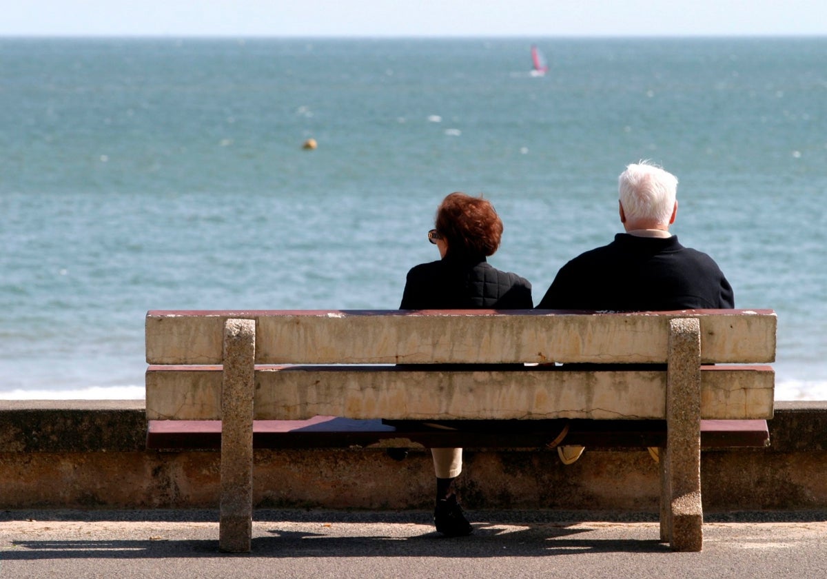
[[[0,38],[0,398],[143,398],[150,309],[398,308],[452,191],[536,303],[638,160],[827,400],[827,38]]]

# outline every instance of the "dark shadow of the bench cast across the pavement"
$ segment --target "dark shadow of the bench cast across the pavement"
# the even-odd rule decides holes
[[[351,524],[332,520],[330,528]],[[305,523],[306,520],[300,521]],[[358,524],[358,522],[357,522]],[[154,559],[164,557],[554,557],[574,553],[668,553],[665,543],[647,539],[651,531],[630,529],[629,538],[595,538],[592,529],[576,522],[538,524],[505,521],[476,523],[470,537],[446,538],[425,525],[411,529],[395,519],[387,532],[347,535],[327,530],[294,530],[284,521],[257,523],[258,536],[252,539],[251,553],[219,553],[218,526],[210,529],[214,538],[165,537],[158,539],[21,539],[0,548],[0,559],[26,561],[43,559]],[[261,534],[262,526],[266,529]],[[325,527],[325,525],[319,525]],[[380,524],[385,527],[385,524]],[[327,528],[327,527],[325,527]],[[338,531],[339,529],[337,529]],[[354,528],[358,532],[358,527]],[[412,532],[413,531],[413,532]],[[173,533],[170,533],[170,535]]]

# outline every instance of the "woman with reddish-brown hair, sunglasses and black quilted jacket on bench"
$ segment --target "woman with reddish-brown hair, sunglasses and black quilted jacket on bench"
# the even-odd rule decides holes
[[[519,275],[490,266],[485,258],[500,247],[503,223],[481,197],[452,193],[437,208],[428,240],[439,261],[408,272],[400,309],[531,309],[531,284]],[[462,471],[461,448],[433,448],[437,505],[433,520],[447,536],[473,532],[462,514],[453,482]]]

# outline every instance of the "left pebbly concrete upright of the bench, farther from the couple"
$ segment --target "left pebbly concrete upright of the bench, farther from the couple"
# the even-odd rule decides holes
[[[256,321],[228,319],[224,323],[218,530],[218,548],[226,553],[249,552],[252,538],[255,361]]]

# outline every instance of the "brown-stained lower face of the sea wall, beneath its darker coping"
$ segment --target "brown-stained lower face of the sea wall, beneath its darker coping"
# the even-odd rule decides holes
[[[657,465],[647,452],[590,452],[564,467],[556,452],[465,453],[459,482],[479,508],[646,510],[657,513]],[[5,509],[212,508],[217,452],[2,453]],[[704,452],[706,512],[827,508],[827,452]],[[256,507],[427,509],[433,464],[378,451],[256,451]]]

